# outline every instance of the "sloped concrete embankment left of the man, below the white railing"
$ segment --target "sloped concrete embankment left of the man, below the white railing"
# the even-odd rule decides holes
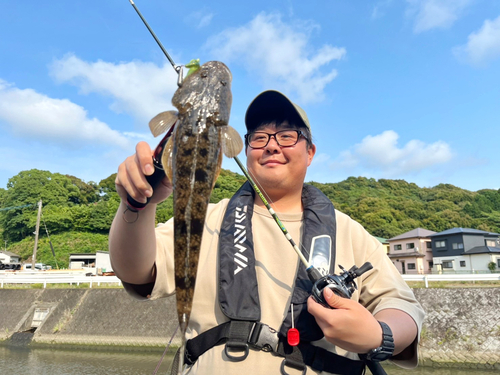
[[[138,301],[123,289],[5,289],[0,301],[0,340],[48,310],[31,345],[165,347],[177,327],[175,297]]]

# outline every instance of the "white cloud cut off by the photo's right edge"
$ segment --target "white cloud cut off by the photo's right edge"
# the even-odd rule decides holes
[[[500,16],[485,20],[483,26],[469,35],[467,44],[453,49],[457,58],[480,65],[500,56]]]

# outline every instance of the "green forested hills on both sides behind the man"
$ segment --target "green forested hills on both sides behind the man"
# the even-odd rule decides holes
[[[107,234],[119,205],[114,179],[111,175],[99,183],[87,183],[36,169],[12,177],[7,189],[0,189],[2,244],[7,241],[8,251],[29,259],[41,199],[39,261],[55,266],[48,235],[60,267],[68,265],[70,253],[107,250]],[[211,202],[230,197],[244,181],[242,175],[222,170]],[[436,232],[453,227],[500,232],[500,190],[471,192],[446,184],[420,188],[404,180],[364,177],[311,184],[375,236],[391,238],[418,227]],[[157,221],[168,220],[172,207],[172,198],[160,204]]]

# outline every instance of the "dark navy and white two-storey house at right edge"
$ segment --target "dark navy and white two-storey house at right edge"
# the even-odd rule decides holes
[[[500,234],[471,228],[453,228],[430,236],[437,272],[490,272],[500,268]]]

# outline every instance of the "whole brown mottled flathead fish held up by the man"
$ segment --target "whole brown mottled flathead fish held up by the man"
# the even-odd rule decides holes
[[[222,155],[243,149],[229,125],[232,74],[222,62],[209,61],[183,80],[172,98],[177,111],[165,111],[149,123],[157,136],[171,131],[161,156],[174,187],[174,265],[177,315],[184,336],[191,315],[205,216],[219,175]]]

